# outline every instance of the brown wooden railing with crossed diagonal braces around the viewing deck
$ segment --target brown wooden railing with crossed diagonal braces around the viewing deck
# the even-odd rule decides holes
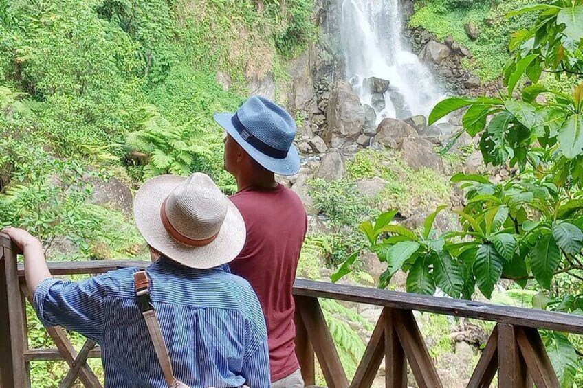
[[[69,372],[59,387],[71,387],[79,378],[85,387],[101,387],[87,365],[100,357],[90,340],[74,350],[62,328],[47,328],[56,349],[29,349],[25,301],[30,300],[23,271],[17,266],[17,249],[0,234],[0,387],[30,387],[30,362],[65,360]],[[52,262],[54,275],[98,274],[146,262]],[[559,312],[493,306],[472,301],[396,293],[375,288],[345,286],[298,279],[296,298],[296,353],[306,385],[316,383],[316,359],[328,387],[371,387],[385,358],[386,387],[407,387],[408,367],[419,387],[443,387],[413,310],[454,317],[494,321],[496,326],[485,345],[467,387],[489,387],[498,372],[504,388],[559,387],[558,378],[537,329],[583,334],[583,317]],[[382,306],[353,380],[347,378],[328,330],[319,298]]]

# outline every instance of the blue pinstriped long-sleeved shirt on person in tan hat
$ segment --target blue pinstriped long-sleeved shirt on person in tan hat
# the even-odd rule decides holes
[[[34,293],[45,326],[101,345],[106,387],[167,387],[135,298],[135,268],[83,282],[46,279]],[[228,266],[189,269],[162,259],[147,269],[174,374],[190,387],[271,387],[265,318],[253,289]]]

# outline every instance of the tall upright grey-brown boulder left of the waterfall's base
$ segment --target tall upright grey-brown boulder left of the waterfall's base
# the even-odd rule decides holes
[[[322,139],[334,148],[355,141],[364,126],[364,108],[351,85],[338,80],[330,95],[327,110],[328,128]]]

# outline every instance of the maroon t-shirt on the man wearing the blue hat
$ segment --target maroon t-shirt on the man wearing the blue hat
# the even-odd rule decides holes
[[[231,271],[247,279],[259,297],[267,320],[272,381],[281,380],[300,367],[292,286],[306,235],[306,211],[296,193],[283,185],[243,189],[231,200],[247,227],[245,247],[230,264]]]

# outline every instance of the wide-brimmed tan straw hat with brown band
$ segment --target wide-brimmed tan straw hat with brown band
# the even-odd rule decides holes
[[[191,268],[226,264],[245,244],[243,216],[206,174],[150,179],[137,190],[133,212],[153,249]]]

